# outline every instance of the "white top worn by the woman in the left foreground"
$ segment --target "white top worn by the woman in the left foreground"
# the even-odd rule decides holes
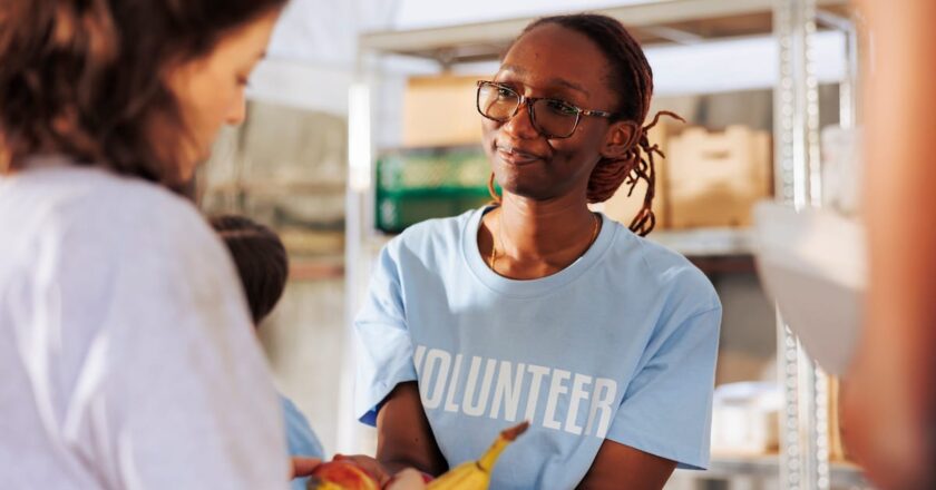
[[[0,176],[0,488],[287,488],[242,295],[159,186],[49,158]]]

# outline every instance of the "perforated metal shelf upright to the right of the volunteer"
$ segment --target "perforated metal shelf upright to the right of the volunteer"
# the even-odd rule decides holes
[[[780,80],[774,92],[777,198],[798,209],[821,204],[819,86],[812,39],[816,0],[776,0],[773,30]],[[829,488],[828,383],[799,340],[777,315],[781,422],[781,488]]]

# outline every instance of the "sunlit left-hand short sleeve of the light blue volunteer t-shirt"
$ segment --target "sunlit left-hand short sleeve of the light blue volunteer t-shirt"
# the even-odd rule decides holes
[[[397,246],[394,241],[380,252],[367,300],[354,321],[358,337],[354,412],[361,422],[370,425],[377,425],[380,404],[393,388],[417,379]]]

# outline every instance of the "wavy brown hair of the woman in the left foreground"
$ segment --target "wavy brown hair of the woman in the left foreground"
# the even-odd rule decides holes
[[[166,70],[286,0],[2,0],[0,174],[30,155],[178,184]]]

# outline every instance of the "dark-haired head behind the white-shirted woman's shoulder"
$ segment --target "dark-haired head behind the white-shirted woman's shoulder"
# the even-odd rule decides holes
[[[254,325],[260,325],[286,287],[286,249],[273,231],[246,217],[225,215],[209,220],[231,251]]]

